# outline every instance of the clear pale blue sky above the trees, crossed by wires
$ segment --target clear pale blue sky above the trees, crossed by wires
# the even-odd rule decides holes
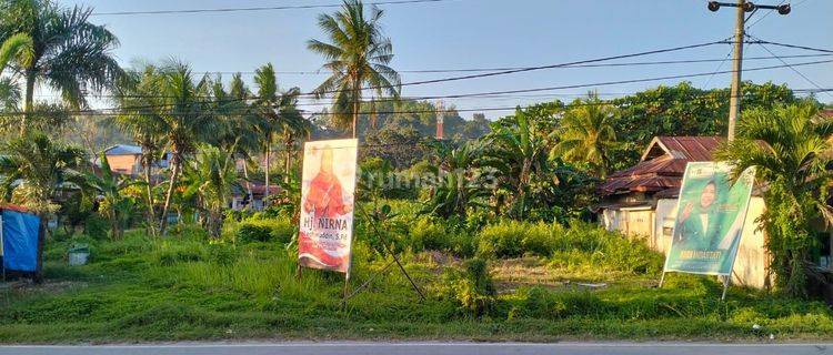
[[[776,4],[781,0],[757,0]],[[80,0],[94,12],[250,8],[334,4],[339,0]],[[749,33],[767,41],[833,49],[833,0],[792,0],[792,13],[780,16],[761,10],[747,24]],[[733,36],[734,9],[706,9],[705,0],[444,0],[424,3],[380,6],[382,24],[393,42],[391,67],[400,71],[435,69],[505,68],[558,64],[595,58],[629,54],[724,40]],[[195,72],[251,72],[271,62],[279,71],[282,89],[299,87],[311,91],[322,74],[323,59],[307,50],[310,39],[325,40],[317,17],[333,8],[178,14],[97,14],[91,22],[106,24],[121,45],[116,54],[130,67],[136,60],[175,58],[190,63]],[[759,21],[760,20],[760,21]],[[756,22],[756,23],[755,23]],[[777,55],[817,54],[805,50],[766,47]],[[668,60],[723,60],[730,44],[623,59],[613,62]],[[760,44],[749,44],[747,58],[771,57]],[[831,58],[791,58],[789,63]],[[747,60],[745,68],[782,64],[776,59]],[[720,68],[720,69],[719,69]],[[795,67],[821,88],[833,88],[833,63]],[[559,68],[483,79],[461,80],[402,88],[404,97],[452,95],[543,87],[592,84],[609,81],[656,78],[731,70],[731,61],[608,68]],[[402,82],[441,79],[466,73],[402,73]],[[225,79],[230,74],[224,75]],[[795,71],[783,68],[744,73],[744,80],[786,83],[793,89],[814,84]],[[570,101],[596,90],[613,98],[681,80],[697,88],[727,87],[730,74],[680,80],[593,85],[500,98],[444,100],[446,105],[465,110],[464,118],[483,109],[503,109],[540,101]],[[833,102],[833,93],[821,93],[820,101]],[[309,104],[309,103],[307,103]],[[307,106],[308,110],[312,106]],[[473,110],[473,111],[468,111]],[[486,110],[490,119],[510,111]]]

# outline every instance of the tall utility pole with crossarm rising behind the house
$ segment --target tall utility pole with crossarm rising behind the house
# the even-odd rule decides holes
[[[712,12],[721,7],[736,8],[734,29],[734,54],[732,58],[732,89],[729,99],[729,140],[734,140],[735,124],[741,114],[741,73],[743,72],[743,39],[746,18],[744,12],[754,12],[757,9],[777,10],[781,14],[790,13],[790,4],[764,6],[754,4],[747,0],[737,0],[737,3],[709,1],[709,10]]]

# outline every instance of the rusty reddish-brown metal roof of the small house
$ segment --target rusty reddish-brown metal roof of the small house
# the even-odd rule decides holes
[[[614,172],[599,186],[602,195],[676,191],[689,162],[711,161],[723,143],[719,136],[656,136],[639,164]]]

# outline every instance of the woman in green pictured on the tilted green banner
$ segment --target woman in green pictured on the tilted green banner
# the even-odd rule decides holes
[[[710,250],[712,243],[720,239],[720,200],[724,193],[722,185],[712,178],[702,185],[697,194],[686,196],[689,201],[676,221],[674,243],[686,245],[686,248]]]

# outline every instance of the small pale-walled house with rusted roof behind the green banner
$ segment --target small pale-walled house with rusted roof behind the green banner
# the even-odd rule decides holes
[[[598,187],[602,197],[595,206],[600,223],[610,231],[644,239],[656,251],[668,252],[685,165],[712,161],[712,153],[724,141],[719,136],[654,138],[636,165],[611,174]],[[754,222],[763,211],[763,199],[753,195],[734,264],[733,283],[754,287],[769,285],[764,235]]]

